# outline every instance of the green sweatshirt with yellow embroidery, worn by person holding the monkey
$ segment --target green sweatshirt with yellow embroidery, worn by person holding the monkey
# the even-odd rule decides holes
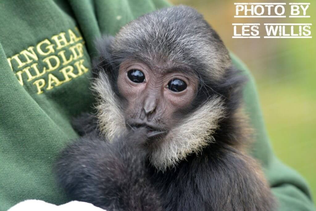
[[[25,199],[68,201],[52,164],[77,137],[72,117],[92,110],[89,90],[94,40],[114,35],[164,0],[0,1],[0,210]],[[313,210],[303,178],[271,150],[249,75],[246,109],[256,129],[252,154],[261,161],[280,210]]]

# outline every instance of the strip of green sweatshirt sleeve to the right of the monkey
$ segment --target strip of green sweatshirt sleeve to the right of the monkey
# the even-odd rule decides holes
[[[244,89],[246,112],[255,129],[252,155],[263,166],[272,193],[277,198],[279,210],[314,210],[306,181],[296,171],[283,164],[273,153],[259,106],[254,79],[246,66],[231,54],[234,65],[247,74],[249,81]],[[286,146],[285,146],[286,147]]]

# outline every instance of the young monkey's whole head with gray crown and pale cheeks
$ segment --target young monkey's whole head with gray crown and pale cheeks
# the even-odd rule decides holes
[[[216,141],[239,83],[222,40],[195,9],[146,14],[96,45],[93,89],[107,139],[148,128],[149,159],[159,170]]]

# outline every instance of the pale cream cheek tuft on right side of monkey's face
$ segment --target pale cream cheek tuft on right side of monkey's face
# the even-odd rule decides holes
[[[200,106],[182,123],[171,129],[151,152],[150,161],[159,170],[175,166],[191,153],[198,153],[210,142],[218,121],[224,117],[224,108],[218,96]]]

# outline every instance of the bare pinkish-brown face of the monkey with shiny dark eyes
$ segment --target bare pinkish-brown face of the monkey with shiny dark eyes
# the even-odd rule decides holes
[[[151,140],[167,135],[191,107],[198,85],[192,71],[178,66],[124,61],[117,86],[126,125],[148,128]]]

